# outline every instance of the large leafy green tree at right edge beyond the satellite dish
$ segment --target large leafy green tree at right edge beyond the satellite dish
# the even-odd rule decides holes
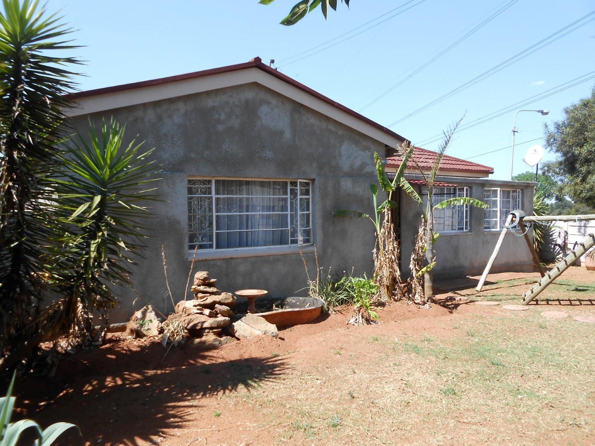
[[[546,147],[558,155],[545,166],[559,183],[560,196],[595,207],[595,88],[591,96],[564,109],[565,117],[544,125]]]

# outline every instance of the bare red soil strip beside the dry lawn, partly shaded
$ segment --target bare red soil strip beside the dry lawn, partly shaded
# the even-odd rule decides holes
[[[452,282],[441,289],[461,284]],[[442,297],[447,296],[453,294]],[[242,340],[206,352],[184,344],[165,355],[157,338],[134,340],[111,334],[104,346],[64,356],[51,378],[29,375],[19,379],[14,392],[17,417],[33,418],[43,427],[59,421],[79,425],[83,438],[65,436],[61,445],[144,445],[161,440],[163,446],[206,444],[205,438],[192,443],[198,437],[208,437],[210,445],[262,444],[263,438],[246,442],[246,432],[232,428],[236,422],[266,424],[270,419],[263,419],[258,411],[246,413],[246,404],[226,408],[225,419],[214,417],[217,405],[212,401],[249,388],[253,382],[273,382],[289,365],[295,373],[296,368],[306,370],[328,362],[333,348],[342,343],[367,354],[366,341],[375,334],[449,337],[453,335],[452,318],[490,312],[488,307],[455,305],[456,312],[436,305],[419,309],[395,303],[378,310],[380,323],[361,327],[346,325],[351,310],[345,309],[345,313],[282,328],[278,338]],[[352,335],[355,331],[357,337]]]

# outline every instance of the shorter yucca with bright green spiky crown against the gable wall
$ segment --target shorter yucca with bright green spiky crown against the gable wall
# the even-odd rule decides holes
[[[142,143],[124,141],[125,126],[102,123],[98,132],[89,123],[87,139],[73,137],[60,155],[62,166],[52,175],[53,208],[62,234],[57,240],[59,263],[53,281],[60,299],[42,315],[46,337],[67,335],[74,343],[101,342],[93,333],[92,313],[99,311],[107,325],[108,310],[117,304],[115,285],[130,285],[130,266],[142,256],[151,216],[149,200],[156,200],[154,161]]]

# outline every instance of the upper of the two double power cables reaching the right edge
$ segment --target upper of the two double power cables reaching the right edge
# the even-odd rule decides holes
[[[406,119],[411,118],[414,115],[417,115],[419,112],[422,112],[428,108],[430,108],[433,105],[436,105],[439,102],[442,102],[444,99],[450,98],[450,96],[456,95],[456,93],[461,92],[462,90],[467,89],[468,87],[471,86],[471,84],[477,84],[478,82],[493,76],[493,74],[496,74],[498,71],[503,70],[506,67],[509,67],[512,64],[515,64],[516,62],[520,61],[521,59],[524,59],[525,57],[533,54],[534,52],[540,50],[541,48],[544,48],[544,46],[550,45],[553,42],[556,42],[556,40],[561,39],[562,37],[566,36],[566,34],[569,34],[577,29],[579,29],[582,26],[585,26],[587,23],[590,23],[591,21],[595,20],[595,17],[591,18],[590,20],[585,21],[584,23],[579,24],[578,26],[574,27],[573,29],[567,31],[564,34],[561,34],[558,36],[558,34],[564,32],[565,30],[567,30],[568,28],[574,26],[575,24],[577,24],[578,22],[584,20],[587,17],[590,17],[591,15],[595,14],[595,11],[591,11],[590,13],[584,15],[583,17],[579,18],[578,20],[575,20],[574,22],[572,22],[571,24],[563,27],[562,29],[556,31],[553,34],[550,34],[549,36],[545,37],[544,39],[541,39],[539,42],[535,43],[534,45],[531,45],[530,47],[524,49],[523,51],[519,52],[518,54],[512,56],[511,58],[506,59],[503,62],[500,62],[500,64],[496,65],[495,67],[490,68],[490,70],[485,71],[484,73],[480,74],[479,76],[476,76],[474,78],[472,78],[469,81],[466,81],[464,84],[456,87],[453,90],[450,90],[450,92],[440,96],[440,98],[434,99],[431,102],[428,102],[426,105],[418,108],[417,110],[411,112],[410,114],[406,115],[405,117],[402,117],[396,121],[394,121],[392,124],[389,124],[387,127],[393,127],[393,125],[399,124],[402,121],[405,121]],[[551,39],[552,37],[557,36],[555,39],[550,40],[549,42],[546,42],[547,40]],[[545,42],[545,43],[544,43]],[[541,45],[543,43],[543,45]],[[538,46],[541,45],[541,46]],[[536,48],[537,47],[537,48]],[[533,51],[531,51],[533,50]],[[530,52],[529,52],[530,51]]]

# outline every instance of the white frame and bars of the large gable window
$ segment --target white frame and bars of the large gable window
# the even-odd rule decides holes
[[[190,182],[191,181],[195,181],[195,180],[200,180],[200,181],[209,181],[210,182],[210,193],[209,194],[197,194],[197,195],[192,195],[188,193],[188,187],[190,186]],[[217,212],[217,199],[218,198],[227,198],[227,197],[243,197],[243,196],[239,196],[239,195],[218,195],[215,193],[216,189],[215,189],[215,181],[221,181],[221,180],[240,180],[240,181],[284,181],[287,183],[287,195],[275,195],[275,198],[283,198],[286,197],[287,198],[287,224],[288,227],[287,228],[273,228],[273,229],[262,229],[262,230],[258,230],[258,231],[267,231],[267,230],[287,230],[288,234],[288,240],[289,243],[288,244],[274,244],[274,245],[267,245],[267,246],[246,246],[246,247],[233,247],[233,248],[217,248],[217,233],[227,233],[227,232],[243,232],[243,231],[256,231],[256,230],[240,230],[240,231],[236,231],[236,230],[222,230],[222,231],[217,231],[217,216],[221,216],[221,215],[260,215],[260,214],[271,214],[271,213],[281,213],[281,212]],[[297,187],[292,187],[292,183],[295,183],[295,186]],[[300,187],[300,185],[302,183],[307,183],[309,185],[308,188],[308,194],[307,195],[302,195],[302,187]],[[297,249],[300,249],[302,247],[309,247],[309,246],[313,246],[314,245],[314,230],[313,230],[313,220],[312,220],[312,216],[313,216],[313,203],[312,203],[312,188],[314,186],[314,181],[312,180],[302,180],[302,179],[293,179],[293,180],[287,180],[286,178],[232,178],[232,177],[216,177],[216,178],[205,178],[205,177],[188,177],[187,178],[187,193],[186,193],[186,199],[187,202],[190,199],[190,197],[193,196],[204,196],[204,197],[210,197],[211,198],[211,212],[209,213],[205,213],[204,215],[211,215],[211,219],[212,219],[212,231],[208,231],[212,233],[212,242],[205,242],[208,244],[212,243],[212,247],[209,248],[199,248],[197,250],[197,258],[200,257],[205,257],[205,256],[209,256],[209,255],[214,255],[215,253],[217,253],[217,255],[214,256],[215,257],[231,257],[231,255],[229,255],[230,253],[236,253],[239,252],[240,255],[238,256],[244,256],[244,255],[268,255],[268,254],[283,254],[283,253],[287,253],[287,252],[297,252]],[[295,197],[292,197],[292,190],[295,191],[296,195]],[[302,199],[308,199],[309,202],[309,208],[307,211],[303,211],[302,210]],[[292,224],[292,214],[295,214],[294,212],[292,212],[292,200],[297,201],[297,215],[295,216],[295,222],[296,224]],[[284,213],[284,212],[283,212]],[[190,214],[188,213],[188,219],[189,219],[189,227],[188,227],[188,232],[187,232],[187,248],[189,251],[189,255],[192,256],[192,254],[195,251],[195,246],[196,244],[200,244],[200,243],[190,243],[190,234],[195,234],[193,231],[190,231],[190,216],[191,215],[198,215],[198,214]],[[309,226],[304,226],[302,227],[301,222],[302,222],[302,215],[308,215],[309,216]],[[306,219],[307,220],[307,219]],[[292,228],[295,228],[295,234],[296,237],[292,237]],[[303,241],[303,231],[309,231],[309,236],[306,237],[308,238],[308,241],[306,243],[304,243]],[[196,233],[199,234],[199,233]],[[292,241],[295,241],[295,243],[292,243]],[[260,253],[259,253],[260,252]],[[189,257],[190,258],[190,257]]]

